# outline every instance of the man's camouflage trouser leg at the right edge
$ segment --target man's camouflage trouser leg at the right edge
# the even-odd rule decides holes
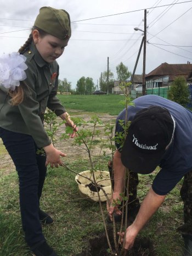
[[[180,196],[183,200],[184,224],[177,230],[183,235],[192,235],[192,171],[184,176]]]

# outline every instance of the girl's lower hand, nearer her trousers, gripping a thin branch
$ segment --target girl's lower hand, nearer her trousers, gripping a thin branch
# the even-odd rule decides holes
[[[63,165],[62,160],[60,157],[66,157],[66,154],[59,151],[58,149],[54,148],[53,144],[46,146],[43,148],[46,152],[46,166],[50,164],[50,167],[57,167],[58,165]]]

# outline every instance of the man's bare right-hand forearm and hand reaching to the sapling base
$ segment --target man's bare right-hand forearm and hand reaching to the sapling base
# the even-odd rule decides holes
[[[159,209],[161,204],[165,200],[165,196],[160,196],[153,191],[153,188],[150,188],[149,193],[144,198],[142,205],[140,206],[139,212],[131,226],[127,227],[126,230],[126,242],[125,249],[131,249],[135,237],[138,235],[139,231],[142,230],[146,222],[153,216],[153,214]],[[120,236],[124,236],[124,234],[119,234]]]

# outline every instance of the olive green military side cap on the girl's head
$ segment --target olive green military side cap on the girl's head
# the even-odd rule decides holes
[[[39,9],[34,26],[60,39],[71,37],[70,16],[66,10],[42,7]]]

